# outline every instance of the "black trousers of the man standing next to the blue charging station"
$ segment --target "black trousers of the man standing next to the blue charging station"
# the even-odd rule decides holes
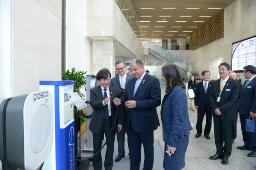
[[[100,133],[92,134],[93,137],[93,154],[97,153],[101,149],[103,135],[105,134],[106,138],[110,138],[107,145],[107,151],[105,155],[104,167],[105,170],[112,170],[113,167],[113,153],[114,153],[114,143],[115,143],[115,132],[114,130],[110,132],[112,127],[112,117],[110,116],[108,119],[103,119]],[[101,170],[102,169],[102,159],[101,152],[96,154],[93,157],[93,169]]]

